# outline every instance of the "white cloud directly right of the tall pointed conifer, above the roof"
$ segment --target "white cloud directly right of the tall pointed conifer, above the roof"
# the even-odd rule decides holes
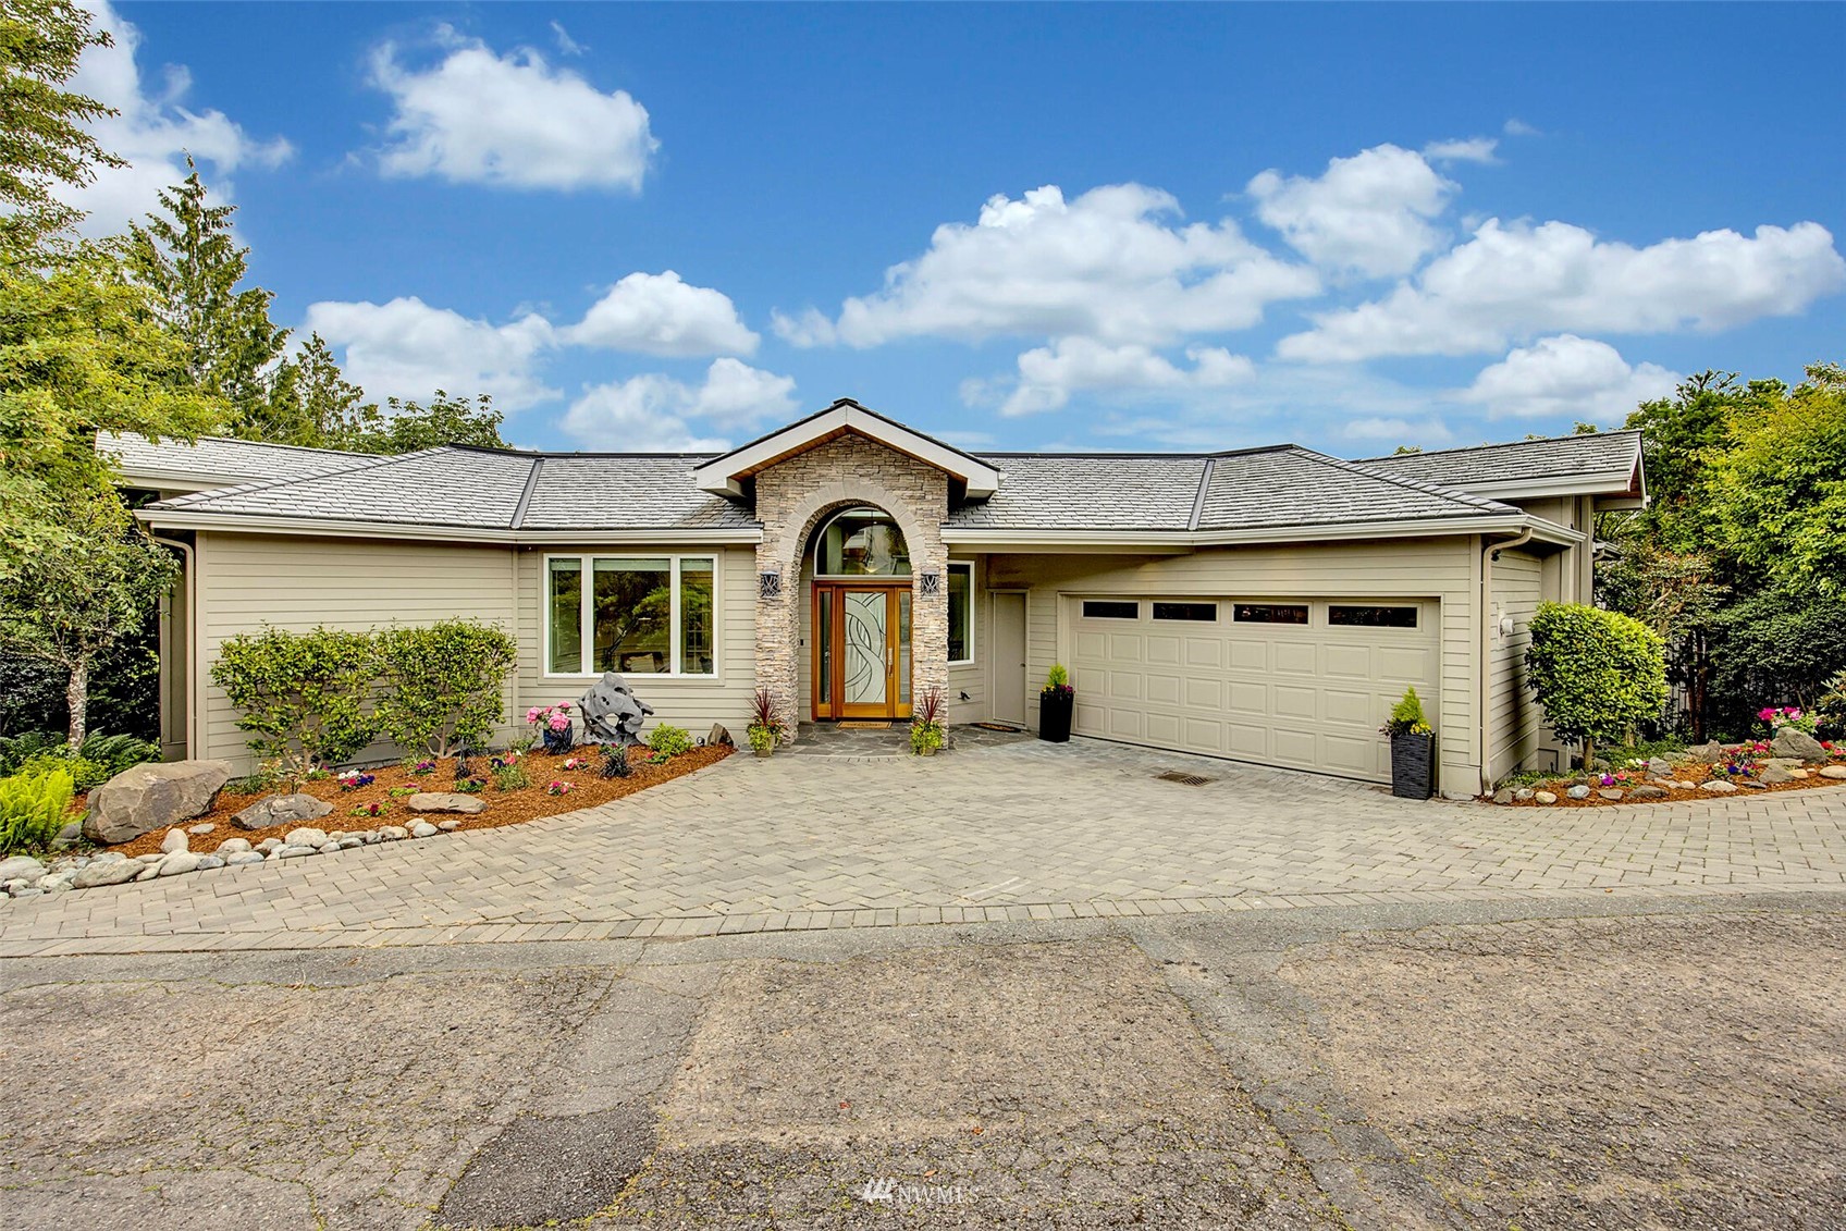
[[[415,297],[384,305],[323,301],[308,305],[303,332],[340,347],[347,378],[380,400],[428,400],[447,389],[460,397],[491,393],[495,406],[517,412],[557,397],[532,371],[554,343],[550,323],[537,314],[491,325]]]

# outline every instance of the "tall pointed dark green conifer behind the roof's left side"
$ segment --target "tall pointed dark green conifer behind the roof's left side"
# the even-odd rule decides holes
[[[231,234],[234,205],[210,205],[186,159],[185,183],[161,190],[161,210],[129,223],[127,268],[185,347],[185,376],[236,412],[238,436],[270,439],[270,384],[288,330],[270,321],[273,292],[240,290],[249,249]]]

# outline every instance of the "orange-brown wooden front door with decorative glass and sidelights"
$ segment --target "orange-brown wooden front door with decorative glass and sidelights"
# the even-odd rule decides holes
[[[814,583],[814,718],[910,716],[910,581]]]

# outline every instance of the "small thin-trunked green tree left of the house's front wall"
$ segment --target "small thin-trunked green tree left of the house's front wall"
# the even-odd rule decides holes
[[[151,618],[179,563],[107,495],[66,504],[63,520],[68,533],[24,556],[0,581],[0,646],[63,675],[76,755],[89,725],[90,672]]]

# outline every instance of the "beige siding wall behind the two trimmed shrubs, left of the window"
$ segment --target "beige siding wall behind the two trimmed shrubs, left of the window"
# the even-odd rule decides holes
[[[264,624],[290,631],[318,624],[369,629],[450,616],[513,631],[508,548],[201,532],[196,567],[203,747],[192,755],[223,757],[240,771],[255,768],[249,736],[236,729],[236,707],[210,683],[225,639]],[[508,701],[511,707],[511,696]],[[366,759],[391,755],[390,746],[375,746]]]

